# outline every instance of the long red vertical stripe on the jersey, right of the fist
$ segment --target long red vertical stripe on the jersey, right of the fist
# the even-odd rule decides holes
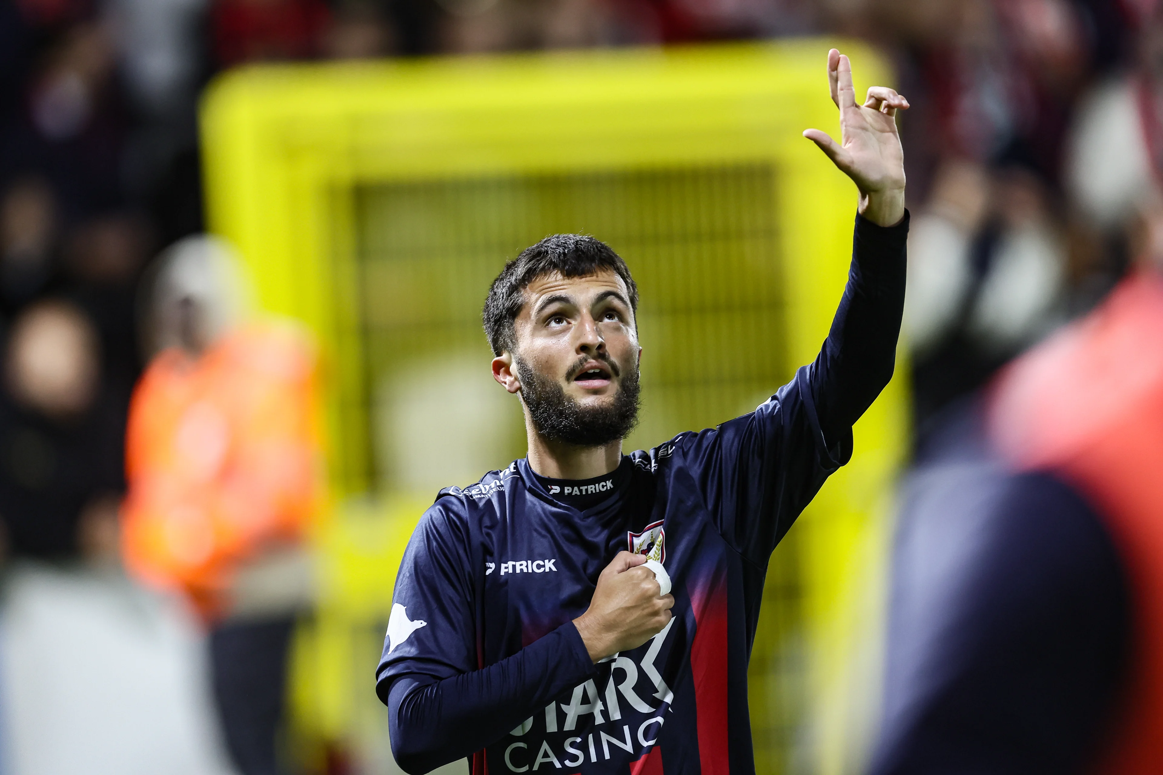
[[[727,751],[727,593],[725,579],[707,580],[706,591],[692,591],[694,640],[691,674],[698,716],[702,775],[729,775]]]

